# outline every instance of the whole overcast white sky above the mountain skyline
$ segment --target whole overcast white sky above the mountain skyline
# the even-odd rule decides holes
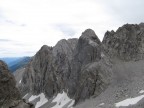
[[[42,45],[144,22],[144,0],[0,0],[0,58],[33,56]]]

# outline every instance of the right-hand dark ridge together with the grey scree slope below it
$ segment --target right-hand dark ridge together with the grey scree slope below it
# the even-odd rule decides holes
[[[104,53],[112,63],[112,81],[96,98],[76,108],[144,107],[144,24],[126,24],[106,32]]]

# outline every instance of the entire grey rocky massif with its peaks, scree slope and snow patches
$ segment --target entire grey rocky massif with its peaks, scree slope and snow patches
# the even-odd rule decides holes
[[[143,108],[144,23],[44,45],[16,72],[17,86],[36,108]]]

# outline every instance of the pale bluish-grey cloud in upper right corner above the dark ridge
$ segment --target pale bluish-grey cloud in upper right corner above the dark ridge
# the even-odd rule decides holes
[[[143,0],[98,0],[107,12],[123,23],[144,22]]]

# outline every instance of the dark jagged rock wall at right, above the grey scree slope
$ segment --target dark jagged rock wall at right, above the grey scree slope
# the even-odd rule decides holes
[[[116,32],[106,32],[103,45],[111,58],[124,61],[143,59],[144,53],[144,24],[126,24]]]

